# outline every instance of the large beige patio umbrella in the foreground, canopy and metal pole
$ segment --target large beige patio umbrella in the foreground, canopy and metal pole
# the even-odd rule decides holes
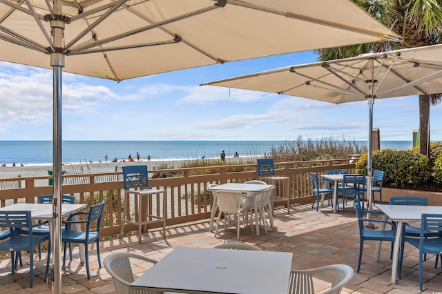
[[[54,292],[61,293],[63,70],[121,81],[400,39],[349,0],[0,0],[0,59],[53,70]]]

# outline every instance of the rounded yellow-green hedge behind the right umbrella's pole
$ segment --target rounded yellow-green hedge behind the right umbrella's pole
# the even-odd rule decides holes
[[[384,186],[406,188],[430,179],[428,159],[412,150],[385,149],[373,153],[372,170],[385,172]],[[356,173],[367,173],[367,154],[356,163]]]

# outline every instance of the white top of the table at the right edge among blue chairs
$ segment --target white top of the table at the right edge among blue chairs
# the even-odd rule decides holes
[[[376,207],[396,222],[420,220],[423,213],[442,213],[442,206],[376,204]]]

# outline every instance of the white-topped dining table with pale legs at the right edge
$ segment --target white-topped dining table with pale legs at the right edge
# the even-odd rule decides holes
[[[417,206],[417,205],[388,205],[375,204],[375,206],[384,213],[383,219],[390,217],[392,221],[396,222],[396,240],[394,241],[393,263],[392,263],[392,284],[396,284],[398,280],[398,259],[399,251],[401,249],[401,239],[403,224],[406,222],[420,221],[423,213],[442,213],[442,206]],[[385,224],[379,228],[383,230]],[[381,252],[381,242],[376,244],[376,252],[374,260],[379,260]]]

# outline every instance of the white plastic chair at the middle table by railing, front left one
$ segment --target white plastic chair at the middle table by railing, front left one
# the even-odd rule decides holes
[[[238,231],[237,239],[240,239],[240,218],[242,213],[247,212],[253,206],[252,197],[247,197],[241,193],[231,191],[216,191],[216,198],[218,201],[218,219],[216,220],[215,236],[218,233],[220,225],[221,214],[234,215],[236,222],[236,231]],[[227,228],[227,219],[224,219],[224,229]]]

